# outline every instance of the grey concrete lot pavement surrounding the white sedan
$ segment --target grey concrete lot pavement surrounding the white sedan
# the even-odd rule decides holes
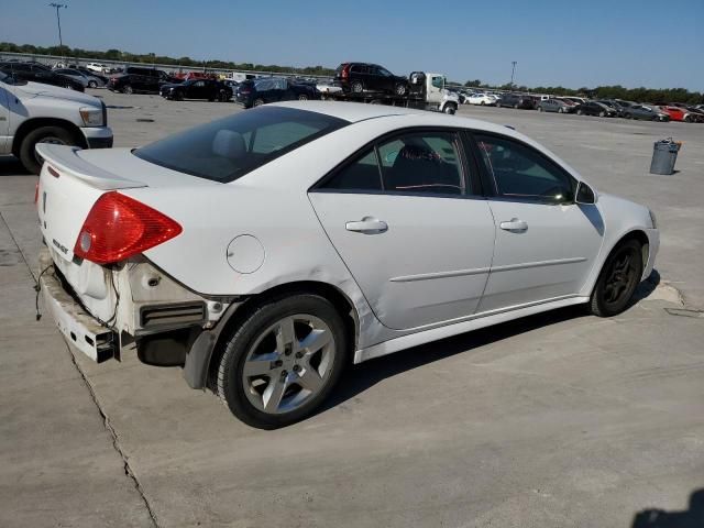
[[[130,107],[109,110],[116,146],[240,111],[94,92]],[[35,321],[36,178],[0,158],[0,526],[605,528],[650,508],[702,515],[690,496],[704,488],[704,125],[460,113],[512,124],[600,191],[650,206],[657,274],[614,319],[558,310],[353,367],[323,411],[268,432],[179,369],[96,365]],[[679,172],[649,175],[668,136],[684,142]]]

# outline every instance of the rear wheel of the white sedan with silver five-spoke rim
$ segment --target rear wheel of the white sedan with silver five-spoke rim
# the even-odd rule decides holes
[[[276,429],[310,416],[340,378],[348,359],[342,318],[312,294],[274,298],[228,340],[218,395],[234,416]]]

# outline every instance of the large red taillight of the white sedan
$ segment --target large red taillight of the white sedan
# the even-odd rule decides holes
[[[74,254],[97,264],[119,262],[177,237],[174,220],[117,191],[92,206],[80,229]]]

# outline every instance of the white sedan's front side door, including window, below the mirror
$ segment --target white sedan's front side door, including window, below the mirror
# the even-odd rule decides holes
[[[480,311],[576,295],[603,241],[596,206],[575,204],[576,180],[532,146],[499,134],[474,140],[496,223]]]

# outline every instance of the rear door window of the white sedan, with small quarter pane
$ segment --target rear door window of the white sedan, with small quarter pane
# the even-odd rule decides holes
[[[322,187],[362,193],[464,195],[458,136],[453,132],[425,132],[380,142]]]

